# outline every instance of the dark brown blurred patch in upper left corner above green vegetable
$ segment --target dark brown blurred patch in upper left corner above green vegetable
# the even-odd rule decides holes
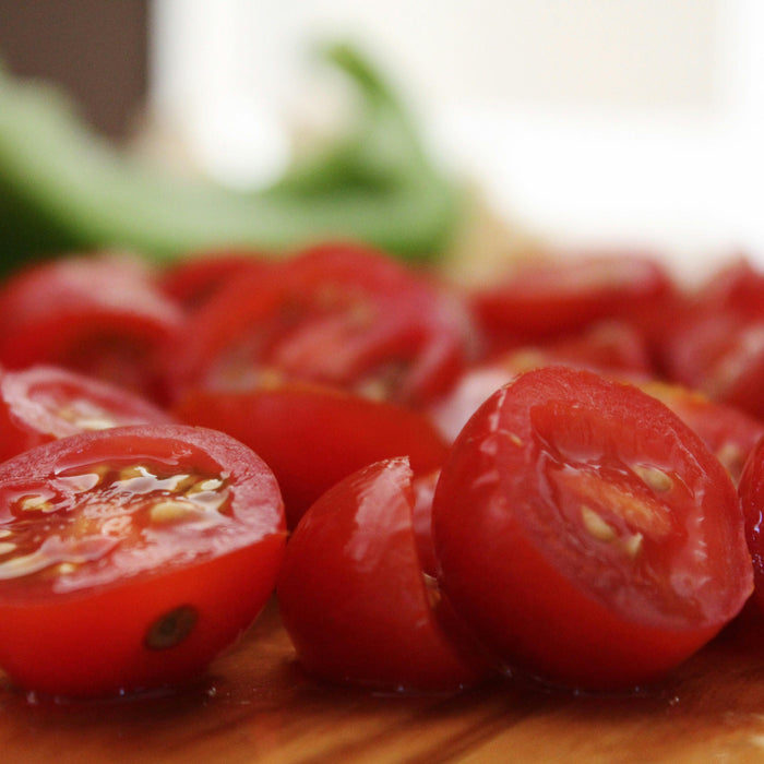
[[[60,84],[95,129],[124,138],[146,93],[148,0],[0,0],[0,61]]]

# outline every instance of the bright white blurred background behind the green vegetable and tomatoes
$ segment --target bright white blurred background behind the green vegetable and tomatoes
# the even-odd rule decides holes
[[[307,53],[349,37],[513,224],[764,262],[757,0],[154,0],[152,33],[153,111],[225,182],[267,182],[333,114]]]

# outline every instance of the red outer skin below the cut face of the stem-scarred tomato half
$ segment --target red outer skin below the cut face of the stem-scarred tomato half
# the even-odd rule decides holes
[[[36,696],[107,697],[182,685],[256,618],[283,556],[284,537],[272,535],[192,574],[179,570],[65,601],[0,602],[0,666]],[[146,647],[150,625],[189,604],[193,634],[170,649]]]

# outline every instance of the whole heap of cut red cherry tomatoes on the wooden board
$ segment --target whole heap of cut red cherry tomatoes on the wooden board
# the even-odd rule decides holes
[[[348,242],[0,285],[0,668],[203,673],[275,597],[319,679],[660,681],[764,607],[764,274],[492,284]]]

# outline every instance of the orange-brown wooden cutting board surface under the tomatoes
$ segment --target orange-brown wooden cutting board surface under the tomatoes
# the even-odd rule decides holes
[[[411,697],[313,681],[271,605],[205,680],[175,694],[46,704],[0,680],[0,761],[764,762],[764,620],[741,617],[640,695],[501,680]]]

